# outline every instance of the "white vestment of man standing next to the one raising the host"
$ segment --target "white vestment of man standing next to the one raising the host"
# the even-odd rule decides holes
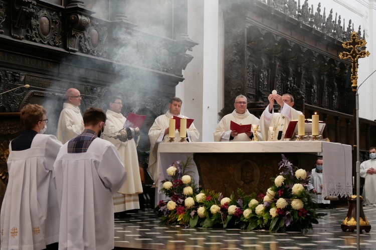
[[[234,121],[238,124],[246,125],[246,124],[259,124],[259,119],[251,114],[248,110],[243,113],[237,113],[236,109],[232,113],[226,114],[217,124],[214,130],[214,141],[230,141],[231,130],[230,130],[230,123]],[[252,129],[253,131],[253,129]],[[262,134],[260,130],[257,132],[257,138],[261,141]],[[234,137],[231,141],[250,141],[251,139],[246,133],[240,133]]]

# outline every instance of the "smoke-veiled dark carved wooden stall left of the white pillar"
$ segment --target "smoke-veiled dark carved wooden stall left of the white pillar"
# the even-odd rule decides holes
[[[0,95],[0,201],[8,179],[5,155],[21,130],[17,112],[28,102],[44,105],[47,133],[55,134],[69,87],[80,90],[82,111],[106,109],[106,97],[117,94],[123,97],[124,115],[147,115],[138,145],[140,166],[147,166],[148,129],[174,96],[182,69],[193,58],[186,51],[197,44],[186,35],[184,0],[162,5],[165,18],[153,12],[140,26],[130,21],[161,2],[0,0],[0,92],[30,84]],[[95,4],[101,15],[91,9]],[[143,31],[150,22],[162,28]]]

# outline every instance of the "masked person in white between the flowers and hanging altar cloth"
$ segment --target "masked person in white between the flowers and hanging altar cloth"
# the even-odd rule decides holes
[[[318,157],[315,168],[312,169],[307,189],[311,194],[312,200],[318,203],[321,208],[324,208],[326,205],[328,206],[328,204],[330,204],[330,200],[326,200],[322,196],[322,168],[322,157]]]

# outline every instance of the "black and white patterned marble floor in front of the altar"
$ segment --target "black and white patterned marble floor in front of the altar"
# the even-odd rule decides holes
[[[363,207],[371,224],[360,233],[360,249],[376,249],[376,207]],[[184,228],[159,225],[151,210],[115,219],[115,249],[356,249],[356,231],[343,232],[347,208],[321,209],[327,215],[305,233]]]

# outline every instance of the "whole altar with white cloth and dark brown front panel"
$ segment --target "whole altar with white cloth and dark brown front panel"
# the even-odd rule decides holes
[[[265,193],[271,177],[279,174],[284,154],[298,168],[311,171],[318,156],[323,157],[323,195],[352,194],[351,146],[326,141],[252,142],[162,142],[158,146],[158,182],[168,178],[166,169],[176,160],[194,154],[190,170],[203,189],[223,192],[241,188],[245,193]],[[157,184],[156,202],[166,197]]]

